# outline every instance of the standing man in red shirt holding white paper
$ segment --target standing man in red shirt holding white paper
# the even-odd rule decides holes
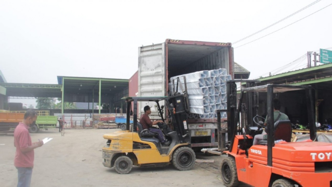
[[[16,126],[14,131],[14,146],[16,147],[14,165],[18,172],[17,187],[30,186],[34,152],[33,149],[43,145],[42,141],[31,142],[29,126],[37,119],[33,109],[26,110],[24,119]]]

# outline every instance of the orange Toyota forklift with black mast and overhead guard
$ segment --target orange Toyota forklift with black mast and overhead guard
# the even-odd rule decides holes
[[[246,82],[247,87],[241,90],[237,103],[237,81],[239,80],[227,82],[229,144],[222,146],[228,148],[223,152],[227,157],[221,164],[224,184],[238,186],[243,182],[258,187],[332,187],[332,143],[317,141],[312,86],[285,84],[256,86],[257,80],[241,80]],[[268,117],[268,122],[274,124],[269,125],[268,140],[261,140],[258,145],[253,145],[254,136],[261,134],[265,127],[264,118],[255,115],[258,108],[258,93],[267,93],[267,116],[274,116],[274,94],[294,90],[306,92],[310,139],[291,142],[290,120],[274,122],[274,117]],[[243,103],[245,96],[246,103]],[[247,104],[247,111],[242,115],[246,115],[247,119],[238,125],[244,104]]]

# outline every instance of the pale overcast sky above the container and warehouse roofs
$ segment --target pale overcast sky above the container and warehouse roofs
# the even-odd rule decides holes
[[[166,38],[235,42],[314,1],[0,0],[0,70],[7,82],[23,83],[57,83],[57,75],[129,78],[142,44]],[[331,3],[321,0],[233,46]],[[332,5],[235,48],[235,61],[256,78],[309,50],[332,47],[331,17]]]

